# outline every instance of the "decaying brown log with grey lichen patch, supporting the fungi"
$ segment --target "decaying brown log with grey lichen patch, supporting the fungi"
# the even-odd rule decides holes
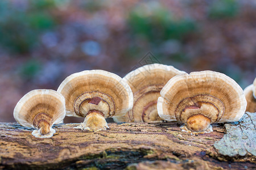
[[[254,114],[198,135],[177,122],[109,123],[97,132],[60,124],[52,138],[42,139],[30,128],[0,123],[0,169],[253,169]]]

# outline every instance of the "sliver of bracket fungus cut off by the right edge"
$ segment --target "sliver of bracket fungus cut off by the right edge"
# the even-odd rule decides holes
[[[256,78],[253,84],[247,86],[243,92],[247,101],[246,112],[256,112]]]

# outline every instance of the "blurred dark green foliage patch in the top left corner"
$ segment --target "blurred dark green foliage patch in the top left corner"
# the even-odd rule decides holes
[[[0,1],[0,44],[11,53],[28,53],[38,44],[39,35],[54,29],[50,14],[53,1],[30,1],[31,5],[14,8],[11,1]]]

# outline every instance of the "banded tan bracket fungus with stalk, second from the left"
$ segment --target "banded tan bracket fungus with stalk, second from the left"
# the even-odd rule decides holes
[[[69,75],[58,90],[66,101],[66,115],[85,117],[77,129],[104,130],[105,118],[122,116],[133,107],[133,92],[118,75],[86,70]]]

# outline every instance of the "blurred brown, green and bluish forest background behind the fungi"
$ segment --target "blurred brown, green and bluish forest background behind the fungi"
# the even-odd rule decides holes
[[[28,91],[57,90],[82,70],[123,77],[148,54],[245,88],[256,76],[256,1],[1,0],[0,121],[15,122]]]

